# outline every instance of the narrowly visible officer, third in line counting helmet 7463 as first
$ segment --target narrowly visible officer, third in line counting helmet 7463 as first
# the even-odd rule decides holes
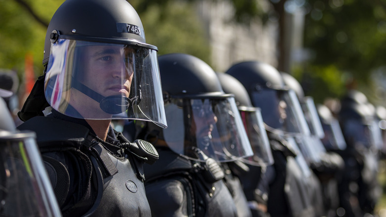
[[[231,170],[240,181],[248,200],[249,209],[253,217],[266,217],[268,186],[265,179],[267,166],[274,163],[263,118],[259,108],[252,106],[248,93],[239,80],[225,73],[217,73],[221,86],[225,93],[234,94],[242,122],[244,124],[249,142],[253,150],[253,156],[241,159],[235,163],[229,163]],[[242,164],[241,164],[242,163]],[[247,169],[244,169],[243,164]]]

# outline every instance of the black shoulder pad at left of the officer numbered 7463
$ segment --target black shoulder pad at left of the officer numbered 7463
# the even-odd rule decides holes
[[[45,116],[35,116],[17,129],[34,131],[40,148],[48,148],[52,144],[79,148],[89,134],[89,129],[83,125]]]

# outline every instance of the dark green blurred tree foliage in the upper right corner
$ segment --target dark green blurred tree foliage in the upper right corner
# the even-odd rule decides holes
[[[335,65],[358,84],[368,84],[370,73],[384,65],[386,55],[385,1],[309,0],[305,46],[314,50],[312,64]]]

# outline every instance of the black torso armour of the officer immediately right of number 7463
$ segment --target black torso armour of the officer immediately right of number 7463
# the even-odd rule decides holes
[[[153,217],[237,216],[233,198],[222,180],[223,173],[210,173],[203,163],[190,161],[166,147],[157,151],[159,160],[144,166]]]

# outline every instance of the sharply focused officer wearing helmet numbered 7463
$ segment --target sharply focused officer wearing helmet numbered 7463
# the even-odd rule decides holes
[[[150,216],[143,164],[158,154],[110,122],[166,126],[156,49],[126,0],[66,0],[53,15],[18,128],[36,132],[63,216]]]

